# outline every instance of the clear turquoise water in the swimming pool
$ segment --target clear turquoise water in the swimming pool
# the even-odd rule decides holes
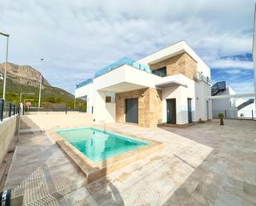
[[[147,141],[138,141],[132,137],[104,132],[93,127],[62,129],[56,132],[94,162],[106,160],[149,144]]]

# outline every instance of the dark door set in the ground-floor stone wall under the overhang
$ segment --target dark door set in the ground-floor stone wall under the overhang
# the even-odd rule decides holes
[[[125,121],[138,123],[138,98],[125,99]]]

